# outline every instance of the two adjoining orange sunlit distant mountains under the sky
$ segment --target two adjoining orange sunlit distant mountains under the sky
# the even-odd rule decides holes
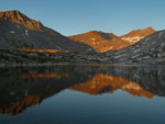
[[[132,31],[122,36],[117,36],[113,33],[91,31],[91,32],[69,36],[69,38],[88,44],[98,53],[102,53],[102,52],[118,50],[124,48],[155,32],[156,31],[153,30],[152,27],[147,27],[144,30]]]

